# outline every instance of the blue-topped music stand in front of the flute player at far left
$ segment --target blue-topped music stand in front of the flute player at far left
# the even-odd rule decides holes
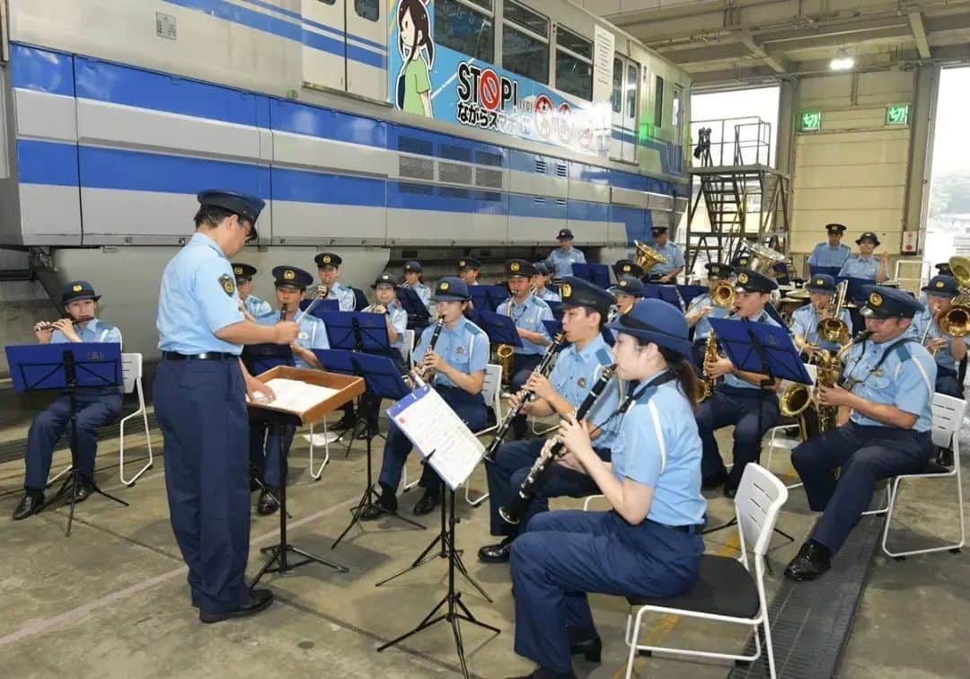
[[[71,449],[71,473],[45,506],[51,506],[70,494],[67,531],[70,537],[74,523],[74,507],[81,490],[81,469],[78,467],[78,391],[104,389],[122,384],[121,344],[117,342],[61,342],[57,344],[25,344],[7,347],[7,363],[17,392],[49,391],[57,389],[68,396],[68,446]],[[128,502],[101,490],[92,478],[91,488],[98,495],[129,506]]]

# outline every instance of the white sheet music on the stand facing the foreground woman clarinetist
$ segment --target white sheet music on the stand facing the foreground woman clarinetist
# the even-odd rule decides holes
[[[485,455],[485,447],[462,419],[429,386],[387,410],[414,447],[451,490],[458,490]]]

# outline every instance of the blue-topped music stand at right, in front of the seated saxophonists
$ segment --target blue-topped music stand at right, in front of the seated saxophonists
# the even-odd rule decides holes
[[[708,319],[718,342],[725,351],[727,359],[735,368],[745,372],[758,372],[765,375],[764,382],[758,390],[758,431],[761,431],[761,399],[764,396],[764,389],[774,384],[775,379],[788,379],[800,384],[812,384],[812,377],[805,370],[798,350],[794,346],[788,330],[784,327],[778,328],[767,323],[757,323],[747,319],[740,321],[729,320],[727,318]],[[758,455],[756,462],[761,459],[761,444],[759,439]],[[733,526],[737,523],[737,518],[731,518],[727,523],[710,528],[704,531],[714,533]],[[779,529],[774,529],[775,533],[784,535],[792,542],[794,537]]]

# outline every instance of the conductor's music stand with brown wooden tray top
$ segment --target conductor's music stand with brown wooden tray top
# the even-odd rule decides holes
[[[253,578],[249,589],[253,589],[266,573],[285,573],[300,566],[316,563],[329,566],[341,573],[349,572],[347,566],[341,566],[335,562],[327,561],[322,557],[311,554],[307,551],[294,547],[287,541],[286,537],[286,472],[289,468],[286,450],[283,447],[283,427],[299,427],[310,425],[322,420],[339,405],[346,403],[364,391],[364,381],[355,377],[330,372],[320,372],[308,370],[306,368],[290,368],[289,366],[278,366],[270,372],[263,372],[257,375],[257,379],[262,382],[269,382],[276,377],[283,379],[297,379],[309,384],[315,384],[329,389],[337,390],[337,393],[330,398],[319,403],[313,404],[306,410],[284,410],[280,409],[274,402],[268,404],[249,403],[250,414],[257,419],[261,419],[273,429],[277,445],[279,446],[279,542],[269,547],[263,547],[260,553],[270,553],[272,556],[269,561],[259,569],[256,577]],[[297,554],[303,559],[295,564],[290,563],[288,556],[290,553]]]

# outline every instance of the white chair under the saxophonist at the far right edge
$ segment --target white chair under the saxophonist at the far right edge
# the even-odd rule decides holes
[[[964,527],[963,527],[963,488],[960,484],[960,426],[963,423],[963,415],[966,413],[967,403],[952,396],[943,394],[933,395],[933,445],[949,448],[954,447],[954,469],[947,469],[930,463],[926,469],[915,474],[900,474],[892,480],[889,492],[889,504],[887,506],[886,526],[883,529],[883,551],[893,559],[902,560],[911,554],[926,554],[928,552],[942,552],[950,550],[954,554],[963,547]],[[905,478],[953,478],[956,481],[956,515],[960,524],[959,542],[948,543],[938,547],[926,547],[923,549],[911,549],[906,552],[893,552],[889,549],[889,526],[892,523],[892,510],[895,508],[899,498],[899,485]]]

